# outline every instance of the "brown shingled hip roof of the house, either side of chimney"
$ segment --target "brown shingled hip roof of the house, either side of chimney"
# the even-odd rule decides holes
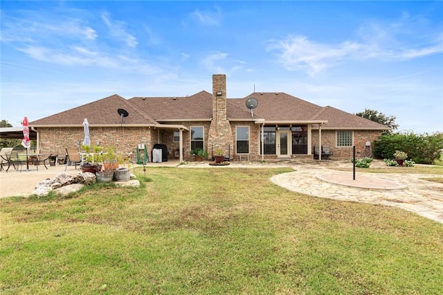
[[[253,117],[245,105],[248,98],[258,100]],[[211,120],[212,99],[213,95],[207,91],[186,97],[134,97],[129,100],[114,94],[29,124],[34,127],[82,125],[87,118],[91,126],[119,125],[121,118],[117,109],[128,111],[125,125],[158,126],[161,123]],[[269,123],[325,123],[323,129],[389,129],[340,109],[320,107],[282,92],[254,92],[245,98],[228,98],[226,111],[228,120],[237,121],[264,119]]]

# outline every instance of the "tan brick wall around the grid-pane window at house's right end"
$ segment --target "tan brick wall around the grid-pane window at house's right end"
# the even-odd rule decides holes
[[[372,148],[374,148],[374,141],[379,138],[382,131],[380,130],[354,130],[354,145],[357,157],[361,157],[363,147],[366,141],[370,141]],[[329,145],[334,156],[332,158],[345,159],[352,158],[352,147],[337,147],[336,146],[336,130],[321,130],[321,144]],[[318,145],[318,130],[312,130],[312,146]],[[314,147],[312,147],[314,153]]]

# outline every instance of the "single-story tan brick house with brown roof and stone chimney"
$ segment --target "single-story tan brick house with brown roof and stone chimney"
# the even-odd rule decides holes
[[[246,100],[255,98],[251,111]],[[251,100],[249,100],[251,101]],[[118,109],[129,116],[123,118]],[[168,156],[193,159],[190,150],[202,147],[212,157],[221,149],[230,159],[312,158],[314,145],[329,145],[335,158],[352,157],[352,146],[363,152],[389,129],[334,107],[320,107],[286,93],[251,93],[226,98],[226,75],[213,75],[213,93],[186,97],[109,96],[59,114],[30,122],[37,132],[40,152],[64,154],[83,138],[89,121],[93,145],[113,145],[121,154],[135,152],[143,143],[168,147]],[[181,152],[180,152],[181,151]]]

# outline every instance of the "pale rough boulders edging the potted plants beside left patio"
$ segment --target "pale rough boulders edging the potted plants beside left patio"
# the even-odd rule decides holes
[[[115,181],[114,183],[117,186],[140,186],[140,181],[135,178],[135,175],[131,175],[132,180]],[[69,195],[69,193],[76,192],[77,190],[83,188],[85,184],[95,183],[96,175],[91,172],[79,173],[78,175],[60,173],[56,175],[54,179],[45,179],[44,181],[40,181],[39,184],[35,186],[33,195],[37,195],[37,197],[44,197],[53,190],[60,195]]]

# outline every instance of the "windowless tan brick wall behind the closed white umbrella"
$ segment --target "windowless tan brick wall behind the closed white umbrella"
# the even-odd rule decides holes
[[[116,153],[133,153],[136,157],[138,143],[144,143],[147,151],[156,143],[156,132],[150,127],[89,127],[91,145],[100,141],[102,147],[114,146]],[[66,147],[77,147],[77,141],[83,142],[83,127],[39,127],[39,151],[64,155]],[[151,136],[151,132],[152,135]]]

